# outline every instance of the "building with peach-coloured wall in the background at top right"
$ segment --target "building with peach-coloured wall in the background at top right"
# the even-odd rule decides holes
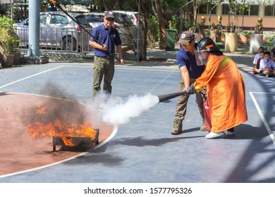
[[[237,10],[236,26],[243,30],[251,30],[256,24],[258,18],[262,18],[262,25],[266,31],[274,31],[275,23],[275,1],[274,0],[238,0],[239,5],[246,4],[247,8],[244,11]],[[214,2],[214,1],[212,1]],[[201,4],[198,8],[197,23],[200,23],[201,17],[206,18],[205,25],[208,27],[211,23],[217,24],[219,15],[222,17],[223,29],[233,22],[233,17],[230,15],[230,8],[228,0],[221,1],[221,3]],[[237,6],[240,8],[241,6]],[[210,19],[210,20],[209,20]]]

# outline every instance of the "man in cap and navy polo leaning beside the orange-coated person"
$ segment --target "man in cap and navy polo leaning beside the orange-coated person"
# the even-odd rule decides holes
[[[182,46],[176,55],[176,61],[178,62],[178,68],[181,70],[182,78],[178,91],[185,91],[198,77],[200,77],[200,75],[202,75],[202,72],[204,72],[204,65],[197,65],[196,63],[195,49],[197,48],[197,43],[195,43],[195,35],[193,32],[182,32],[178,44]],[[183,132],[183,120],[187,110],[188,98],[189,95],[178,96],[176,115],[173,120],[171,134],[181,134]],[[203,121],[200,130],[206,131],[202,94],[196,94],[196,103]]]

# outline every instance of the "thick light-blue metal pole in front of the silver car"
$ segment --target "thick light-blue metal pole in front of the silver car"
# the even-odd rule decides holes
[[[29,49],[27,56],[39,57],[39,12],[40,0],[29,1]]]

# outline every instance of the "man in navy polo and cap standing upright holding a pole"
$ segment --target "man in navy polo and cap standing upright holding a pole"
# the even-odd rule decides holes
[[[118,57],[121,65],[124,64],[121,37],[114,25],[115,13],[107,11],[104,15],[104,23],[92,30],[92,36],[98,40],[97,43],[93,37],[90,37],[90,46],[94,47],[94,73],[93,73],[93,96],[101,91],[101,83],[104,77],[103,91],[111,94],[111,81],[114,77],[114,56],[115,46],[118,51]],[[111,53],[109,53],[109,51]]]

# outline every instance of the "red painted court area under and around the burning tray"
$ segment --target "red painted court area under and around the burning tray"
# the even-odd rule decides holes
[[[87,147],[56,146],[54,152],[52,137],[33,139],[27,133],[26,111],[49,99],[58,98],[0,93],[0,176],[50,165],[87,151]],[[99,144],[113,132],[113,127],[104,122],[97,128]]]

